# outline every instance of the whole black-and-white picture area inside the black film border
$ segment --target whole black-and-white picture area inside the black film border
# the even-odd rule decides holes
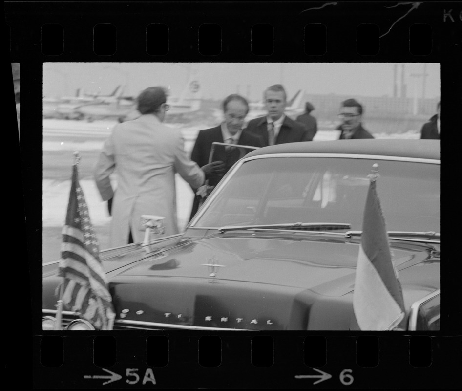
[[[43,330],[439,330],[440,87],[43,63]]]

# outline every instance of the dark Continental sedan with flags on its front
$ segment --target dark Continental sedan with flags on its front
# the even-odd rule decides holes
[[[253,151],[183,234],[101,252],[114,329],[358,330],[355,271],[375,163],[405,327],[438,330],[440,143],[380,139]],[[48,322],[57,266],[44,265]],[[77,318],[63,311],[63,326]]]

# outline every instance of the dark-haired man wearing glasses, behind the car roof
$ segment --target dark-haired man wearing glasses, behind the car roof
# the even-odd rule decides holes
[[[342,123],[337,127],[337,130],[341,130],[339,140],[374,138],[361,125],[362,112],[361,104],[355,99],[347,99],[341,103],[338,117]]]

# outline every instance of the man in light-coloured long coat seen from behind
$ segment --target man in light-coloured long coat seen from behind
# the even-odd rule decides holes
[[[94,170],[96,185],[112,215],[109,247],[141,242],[142,215],[165,217],[165,235],[179,233],[175,174],[198,188],[205,172],[191,161],[179,129],[162,124],[169,109],[163,87],[149,87],[137,98],[141,116],[117,124],[105,141]],[[117,189],[109,175],[117,172]]]

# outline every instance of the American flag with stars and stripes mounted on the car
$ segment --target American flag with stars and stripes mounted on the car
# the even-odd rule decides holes
[[[81,318],[95,328],[111,330],[115,312],[76,164],[72,169],[69,203],[62,233],[59,276],[64,281],[58,291],[62,292],[63,304],[78,312]]]

